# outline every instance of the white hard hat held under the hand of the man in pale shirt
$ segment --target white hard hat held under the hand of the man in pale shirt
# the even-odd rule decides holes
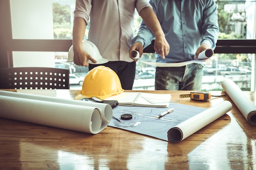
[[[99,49],[95,44],[88,40],[82,41],[83,50],[86,51],[94,60],[97,61],[97,63],[93,63],[92,61],[88,60],[88,63],[90,64],[103,64],[108,62],[106,58],[102,58],[101,54],[99,53]],[[74,61],[74,51],[73,51],[73,45],[70,47],[68,51],[68,58],[67,62],[73,62]]]

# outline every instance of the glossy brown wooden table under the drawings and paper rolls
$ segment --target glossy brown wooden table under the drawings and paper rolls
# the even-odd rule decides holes
[[[77,90],[13,90],[73,99]],[[172,102],[209,108],[223,100],[233,107],[180,143],[107,127],[96,135],[0,118],[0,170],[253,170],[256,127],[245,120],[231,99],[207,102],[180,99],[189,91],[168,93]],[[256,103],[256,93],[245,91]],[[212,91],[212,95],[225,94]],[[15,106],[13,106],[15,107]],[[1,110],[0,110],[1,111]],[[196,122],[195,122],[196,123]]]

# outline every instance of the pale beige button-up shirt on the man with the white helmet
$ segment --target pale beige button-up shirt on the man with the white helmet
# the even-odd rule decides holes
[[[74,20],[81,17],[88,24],[89,40],[103,58],[132,62],[129,48],[134,37],[134,13],[151,7],[148,0],[76,0]]]

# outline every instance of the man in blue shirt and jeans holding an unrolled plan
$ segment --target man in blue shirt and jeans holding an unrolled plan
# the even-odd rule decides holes
[[[214,0],[150,0],[170,45],[167,56],[155,53],[158,63],[193,60],[206,49],[215,49],[218,39],[218,15]],[[130,50],[139,51],[151,43],[154,34],[141,23]],[[195,90],[201,88],[204,64],[181,67],[156,67],[156,90]]]

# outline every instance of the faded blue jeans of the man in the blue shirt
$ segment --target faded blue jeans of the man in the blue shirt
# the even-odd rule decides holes
[[[182,67],[156,67],[155,90],[200,91],[203,67],[196,63]]]

